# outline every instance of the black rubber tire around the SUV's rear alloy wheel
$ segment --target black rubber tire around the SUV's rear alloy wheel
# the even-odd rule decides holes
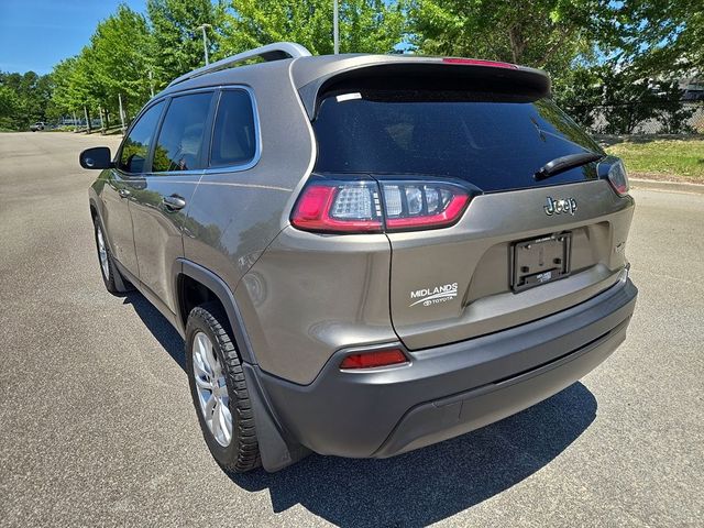
[[[206,424],[196,388],[194,373],[194,340],[204,332],[213,345],[218,362],[222,367],[232,416],[232,438],[227,447],[221,446]],[[208,302],[194,308],[186,323],[186,371],[190,385],[198,422],[206,443],[216,461],[226,470],[244,473],[262,465],[260,448],[254,427],[254,411],[246,388],[242,363],[230,332],[228,318],[217,302]]]

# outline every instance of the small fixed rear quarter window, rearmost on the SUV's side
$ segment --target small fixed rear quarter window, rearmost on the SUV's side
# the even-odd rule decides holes
[[[212,133],[210,166],[244,165],[256,155],[256,130],[250,94],[224,90]]]

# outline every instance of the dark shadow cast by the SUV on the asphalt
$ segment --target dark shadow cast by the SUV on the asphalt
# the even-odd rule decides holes
[[[184,342],[144,297],[131,304],[185,367]],[[385,460],[311,454],[278,473],[231,474],[243,490],[268,488],[272,508],[300,504],[338,526],[425,526],[463,512],[532,475],[594,421],[596,399],[581,383],[468,435]]]

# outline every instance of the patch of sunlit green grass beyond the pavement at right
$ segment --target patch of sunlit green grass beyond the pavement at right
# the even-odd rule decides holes
[[[634,177],[704,184],[704,140],[624,142],[606,147]]]

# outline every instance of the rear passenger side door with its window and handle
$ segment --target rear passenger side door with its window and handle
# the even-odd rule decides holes
[[[174,96],[154,142],[150,169],[132,190],[131,213],[140,280],[173,314],[176,258],[188,205],[206,166],[213,91]],[[154,300],[154,299],[152,299]]]

